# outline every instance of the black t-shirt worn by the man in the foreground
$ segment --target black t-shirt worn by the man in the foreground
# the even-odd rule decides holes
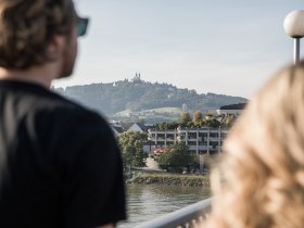
[[[36,84],[0,80],[0,227],[125,219],[121,154],[98,114]]]

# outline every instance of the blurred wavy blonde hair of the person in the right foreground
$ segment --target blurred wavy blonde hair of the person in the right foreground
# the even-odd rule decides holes
[[[224,150],[204,227],[304,226],[304,63],[280,71],[259,90]]]

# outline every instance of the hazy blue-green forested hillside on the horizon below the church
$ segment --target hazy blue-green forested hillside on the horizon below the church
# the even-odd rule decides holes
[[[157,107],[207,110],[226,104],[243,103],[246,99],[215,93],[198,94],[195,90],[179,89],[173,85],[148,83],[140,78],[111,84],[92,84],[56,88],[58,92],[80,102],[106,116],[130,110],[139,112]]]

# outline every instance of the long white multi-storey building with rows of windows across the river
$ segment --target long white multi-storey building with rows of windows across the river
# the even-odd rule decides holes
[[[177,142],[185,142],[189,150],[197,154],[214,154],[221,152],[223,141],[228,134],[224,128],[181,128],[159,130],[148,129],[148,140],[156,147],[167,147]]]

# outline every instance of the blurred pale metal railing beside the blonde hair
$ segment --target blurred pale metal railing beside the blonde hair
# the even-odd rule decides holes
[[[195,228],[211,212],[212,198],[145,221],[135,228]]]

